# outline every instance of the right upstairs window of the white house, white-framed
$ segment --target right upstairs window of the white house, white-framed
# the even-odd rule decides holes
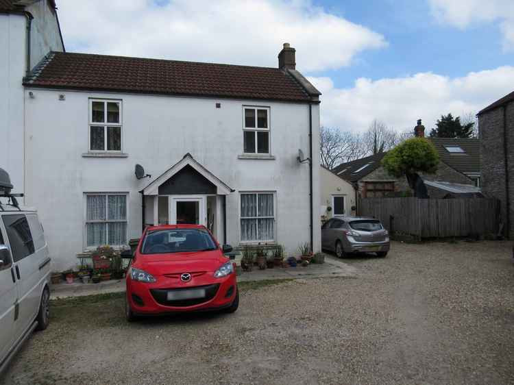
[[[243,108],[243,152],[269,154],[269,108]]]

